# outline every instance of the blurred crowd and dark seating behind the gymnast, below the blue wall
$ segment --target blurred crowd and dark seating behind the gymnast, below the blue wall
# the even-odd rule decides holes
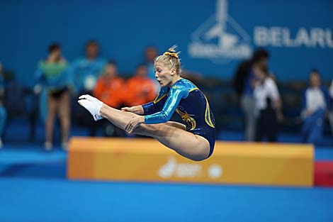
[[[116,58],[99,56],[98,40],[88,40],[84,55],[73,61],[66,59],[60,43],[50,43],[45,50],[45,56],[40,52],[40,61],[36,61],[31,87],[24,87],[10,67],[4,70],[0,63],[1,146],[18,139],[6,131],[11,124],[16,131],[28,124],[26,136],[30,141],[43,141],[45,150],[52,150],[54,143],[66,149],[73,135],[133,136],[105,119],[95,122],[77,104],[77,98],[91,94],[117,109],[153,101],[159,91],[154,58],[163,49],[147,46],[131,73],[119,73]],[[279,82],[269,70],[270,57],[264,48],[254,50],[227,80],[188,70],[182,70],[182,76],[208,96],[220,139],[227,134],[231,140],[332,143],[324,138],[331,138],[333,133],[333,82],[321,79],[317,69],[309,70],[307,82]],[[172,120],[181,121],[176,115]],[[36,134],[38,128],[43,128],[43,133]],[[294,139],[281,140],[280,133],[293,134]]]

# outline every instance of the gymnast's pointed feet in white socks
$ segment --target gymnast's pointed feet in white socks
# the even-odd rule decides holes
[[[79,101],[77,102],[91,113],[95,121],[103,118],[101,117],[101,107],[103,106],[102,101],[90,95],[82,95],[79,96]]]

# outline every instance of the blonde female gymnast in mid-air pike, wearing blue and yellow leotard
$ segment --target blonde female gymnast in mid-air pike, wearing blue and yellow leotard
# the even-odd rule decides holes
[[[141,106],[113,109],[89,95],[79,97],[94,120],[106,118],[127,133],[147,135],[195,161],[205,160],[215,145],[215,120],[202,91],[180,76],[176,46],[154,62],[155,77],[161,90],[154,101]],[[184,124],[169,121],[176,111]]]

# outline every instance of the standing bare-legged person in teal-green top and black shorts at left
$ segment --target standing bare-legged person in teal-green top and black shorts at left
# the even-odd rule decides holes
[[[35,72],[35,91],[40,91],[40,85],[47,90],[47,119],[45,123],[45,150],[52,149],[52,136],[55,116],[58,113],[62,127],[62,148],[67,148],[70,127],[69,106],[69,76],[68,63],[61,55],[60,45],[52,43],[48,47],[49,55],[38,63]]]

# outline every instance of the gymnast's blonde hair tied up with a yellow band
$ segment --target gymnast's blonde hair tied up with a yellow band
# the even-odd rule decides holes
[[[162,62],[163,65],[171,69],[175,69],[177,74],[181,74],[181,61],[179,59],[179,52],[176,52],[177,45],[173,45],[169,50],[159,55],[155,62]]]

